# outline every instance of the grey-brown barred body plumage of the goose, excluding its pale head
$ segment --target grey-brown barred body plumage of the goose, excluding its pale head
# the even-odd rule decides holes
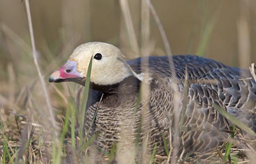
[[[225,131],[232,131],[233,124],[220,115],[212,103],[216,103],[248,127],[256,130],[256,84],[253,80],[245,80],[250,77],[249,71],[193,55],[175,55],[173,61],[176,78],[172,75],[167,57],[150,57],[148,61],[152,79],[149,83],[149,109],[145,118],[150,121],[148,146],[151,150],[156,144],[156,153],[166,155],[163,136],[170,145],[169,119],[173,123],[174,90],[171,86],[175,78],[183,99],[186,66],[188,100],[183,127],[188,129],[181,132],[183,141],[180,140],[180,151],[184,149],[185,154],[204,152],[226,141],[230,133]],[[143,64],[141,58],[127,63],[137,74],[141,74],[141,64]],[[97,134],[96,144],[101,149],[109,151],[118,143],[121,136],[125,136],[125,144],[135,143],[140,128],[144,128],[143,124],[142,127],[140,125],[142,105],[136,109],[139,84],[140,81],[136,78],[127,78],[114,86],[102,87],[92,84],[93,89],[103,91],[104,95],[98,104],[102,92],[94,91],[97,92],[93,97],[96,101],[86,111],[85,127],[86,130],[89,129],[97,110],[93,128],[89,133],[90,136]],[[180,112],[183,107],[182,102],[183,100],[179,102]],[[142,131],[139,142],[144,136]]]

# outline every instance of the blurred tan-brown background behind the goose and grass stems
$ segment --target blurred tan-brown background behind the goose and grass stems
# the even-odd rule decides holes
[[[118,46],[127,58],[166,55],[156,23],[166,33],[172,54],[196,54],[230,66],[248,68],[256,61],[256,1],[152,1],[157,15],[144,1],[55,0],[30,1],[40,68],[46,83],[76,46],[89,41]],[[27,107],[46,108],[31,54],[24,2],[0,1],[0,120],[9,110],[26,113]],[[57,86],[57,87],[56,87]],[[76,84],[49,84],[53,106]],[[56,91],[64,90],[57,94]],[[56,96],[57,94],[57,96]],[[62,94],[62,95],[61,95]],[[36,107],[35,107],[36,106]],[[40,113],[40,112],[39,112]]]

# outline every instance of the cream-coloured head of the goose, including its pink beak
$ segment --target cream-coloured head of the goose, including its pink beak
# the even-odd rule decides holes
[[[113,85],[129,76],[138,77],[117,47],[103,42],[89,42],[78,46],[68,61],[51,74],[49,82],[74,81],[84,85],[91,58],[91,83]]]

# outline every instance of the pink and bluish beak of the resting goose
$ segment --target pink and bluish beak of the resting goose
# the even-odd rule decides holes
[[[77,71],[76,61],[67,61],[59,70],[53,72],[49,76],[50,83],[61,83],[64,81],[74,81],[79,84],[83,84],[85,77]]]

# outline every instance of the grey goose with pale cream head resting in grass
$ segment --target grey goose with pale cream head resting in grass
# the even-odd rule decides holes
[[[249,71],[196,55],[173,55],[170,61],[156,56],[126,61],[117,47],[88,42],[73,51],[49,82],[85,85],[90,80],[84,127],[89,137],[97,134],[97,148],[107,152],[121,141],[129,147],[147,140],[150,152],[156,146],[156,154],[167,156],[166,145],[175,141],[175,120],[183,127],[179,152],[214,149],[230,136],[233,123],[213,103],[256,131],[256,83],[248,79]],[[148,87],[144,97],[142,84]]]

